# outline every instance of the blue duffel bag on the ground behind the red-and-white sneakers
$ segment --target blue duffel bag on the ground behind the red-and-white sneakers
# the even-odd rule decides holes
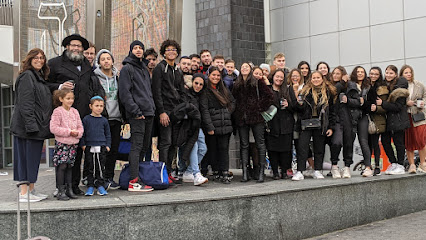
[[[169,177],[164,162],[140,162],[139,178],[145,185],[151,186],[155,190],[163,190],[169,187]],[[129,164],[126,164],[123,170],[121,170],[120,179],[118,181],[121,189],[127,190],[130,180],[130,168]]]

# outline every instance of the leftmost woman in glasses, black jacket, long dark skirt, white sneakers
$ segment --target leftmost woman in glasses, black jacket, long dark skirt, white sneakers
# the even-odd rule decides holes
[[[46,85],[49,67],[43,50],[34,48],[22,62],[22,70],[15,83],[15,110],[12,116],[15,181],[30,182],[30,201],[37,202],[47,195],[36,193],[43,141],[51,137],[49,130],[52,114],[52,95]],[[26,185],[22,185],[20,201],[27,201]]]

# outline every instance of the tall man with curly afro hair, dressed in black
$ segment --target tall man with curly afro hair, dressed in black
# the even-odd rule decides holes
[[[160,117],[158,136],[159,159],[167,165],[169,182],[175,182],[170,176],[173,157],[176,154],[172,146],[172,123],[170,113],[181,103],[180,94],[184,91],[183,75],[175,64],[180,55],[180,45],[175,40],[166,40],[161,44],[160,54],[164,57],[152,73],[152,93],[155,107]]]

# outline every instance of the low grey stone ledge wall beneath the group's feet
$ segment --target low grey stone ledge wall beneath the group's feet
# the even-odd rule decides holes
[[[273,181],[219,191],[133,195],[34,210],[33,235],[52,239],[301,239],[426,209],[426,175]],[[59,205],[62,203],[57,203]],[[16,239],[12,208],[0,239]],[[408,223],[407,223],[408,224]],[[25,225],[23,226],[25,232]]]

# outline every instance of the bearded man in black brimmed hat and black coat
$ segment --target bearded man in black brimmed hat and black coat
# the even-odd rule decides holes
[[[58,89],[73,89],[75,96],[73,107],[83,119],[90,114],[90,98],[97,95],[96,86],[99,86],[92,81],[92,67],[83,55],[83,50],[89,48],[89,42],[79,34],[72,34],[64,38],[62,46],[66,48],[62,55],[50,59],[47,63],[50,67],[47,84],[52,92]],[[78,148],[72,171],[72,190],[75,194],[83,194],[78,188],[82,155],[82,149]]]

